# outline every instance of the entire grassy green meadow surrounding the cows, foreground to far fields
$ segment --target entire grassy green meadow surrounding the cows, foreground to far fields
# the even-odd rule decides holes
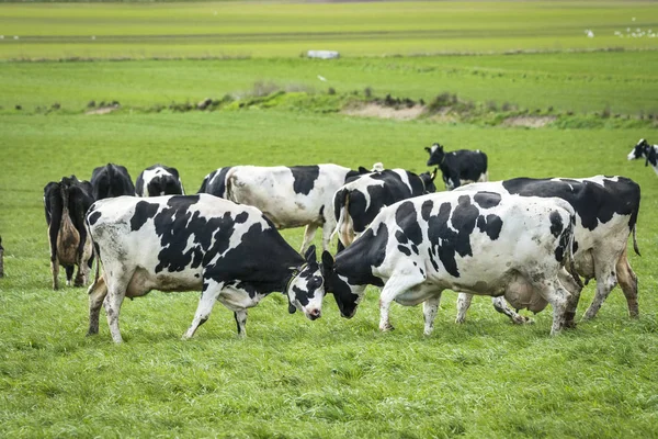
[[[650,2],[0,4],[0,437],[657,437],[658,180],[626,155],[639,138],[658,142],[658,40],[599,37],[597,27],[625,32],[633,16],[658,30]],[[86,40],[92,31],[98,47]],[[345,56],[299,58],[307,48]],[[538,53],[502,55],[517,49]],[[158,56],[190,59],[141,59]],[[71,57],[95,60],[56,60]],[[191,59],[198,57],[216,59]],[[294,108],[151,110],[241,99],[268,82],[314,98]],[[329,112],[319,103],[366,88],[428,102],[451,92],[574,117],[608,109],[638,123],[487,126],[355,117],[336,111],[340,100]],[[84,114],[91,100],[122,109]],[[434,334],[423,337],[420,307],[393,305],[396,330],[378,331],[376,289],[350,320],[330,295],[322,318],[310,322],[288,315],[275,293],[250,311],[246,339],[218,304],[183,342],[198,294],[154,291],[124,302],[125,342],[115,346],[104,318],[98,336],[84,337],[84,289],[49,286],[43,187],[63,176],[89,179],[112,161],[136,178],[162,162],[195,192],[209,171],[240,164],[383,161],[420,172],[433,142],[485,150],[492,180],[637,181],[643,256],[629,260],[640,317],[627,317],[616,288],[594,320],[551,338],[549,307],[534,325],[514,326],[476,297],[456,325],[447,291]],[[282,234],[300,246],[302,229]]]

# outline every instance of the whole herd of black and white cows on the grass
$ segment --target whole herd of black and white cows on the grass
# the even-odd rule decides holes
[[[394,301],[422,303],[429,335],[450,289],[460,293],[457,322],[473,295],[488,295],[514,323],[529,322],[519,309],[551,304],[554,335],[576,325],[581,278],[597,281],[583,318],[595,316],[616,284],[629,315],[638,316],[626,250],[633,236],[639,255],[638,184],[603,176],[488,182],[485,153],[444,151],[439,144],[426,150],[427,165],[436,168],[420,175],[381,164],[372,170],[232,166],[208,173],[194,195],[185,195],[175,168],[162,165],[145,169],[136,184],[113,164],[94,169],[89,182],[65,177],[44,188],[53,288],[59,266],[67,284],[86,284],[98,258],[89,334],[98,333],[104,306],[116,342],[123,300],[151,290],[202,291],[183,338],[207,320],[216,301],[234,312],[245,336],[247,309],[272,292],[311,320],[330,293],[350,318],[367,285],[382,289],[382,330],[393,328]],[[643,139],[628,159],[645,157],[658,172],[657,151]],[[446,192],[435,192],[439,170]],[[279,229],[300,226],[297,252]],[[318,227],[319,261],[311,245]]]

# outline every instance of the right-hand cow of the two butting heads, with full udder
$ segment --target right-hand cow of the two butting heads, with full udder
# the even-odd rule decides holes
[[[462,191],[404,200],[384,207],[336,260],[322,254],[325,290],[351,318],[366,285],[383,286],[381,330],[393,329],[393,301],[423,303],[426,335],[445,289],[504,295],[533,312],[551,303],[556,335],[572,325],[567,289],[580,282],[572,272],[574,222],[559,199]]]

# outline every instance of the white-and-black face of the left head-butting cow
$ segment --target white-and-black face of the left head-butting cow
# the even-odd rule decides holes
[[[315,320],[321,315],[325,297],[325,281],[320,264],[317,262],[315,246],[306,250],[304,259],[306,262],[295,268],[286,286],[288,312],[293,314],[299,309],[306,317]]]

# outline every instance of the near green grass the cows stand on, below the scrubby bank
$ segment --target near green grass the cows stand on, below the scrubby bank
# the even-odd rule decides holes
[[[654,437],[658,434],[656,177],[628,162],[634,130],[512,130],[359,120],[276,110],[107,116],[0,116],[0,436]],[[638,320],[615,289],[598,318],[549,338],[551,313],[509,324],[486,297],[457,326],[446,293],[434,335],[419,308],[394,306],[379,334],[373,289],[351,320],[333,300],[309,322],[274,294],[237,339],[216,306],[188,342],[197,293],[126,301],[114,346],[86,338],[83,289],[49,289],[42,188],[115,161],[135,177],[161,161],[194,191],[226,165],[334,161],[421,171],[422,147],[486,150],[492,179],[621,173],[643,188]],[[302,230],[284,230],[298,247]],[[593,284],[593,282],[592,282]],[[592,299],[590,284],[579,306]]]

